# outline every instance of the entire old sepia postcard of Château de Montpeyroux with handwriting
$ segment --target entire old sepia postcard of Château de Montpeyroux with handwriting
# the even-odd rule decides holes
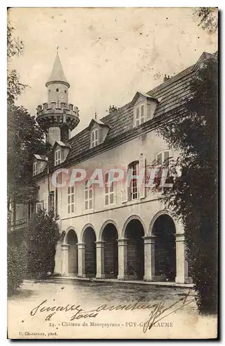
[[[8,338],[217,338],[217,8],[8,10]]]

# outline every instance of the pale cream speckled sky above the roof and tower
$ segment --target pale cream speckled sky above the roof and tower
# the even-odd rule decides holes
[[[59,46],[69,102],[80,114],[72,136],[95,111],[100,119],[110,105],[123,106],[165,74],[195,64],[204,51],[217,51],[217,37],[197,26],[193,8],[11,8],[8,20],[24,44],[9,66],[28,84],[17,104],[36,115],[47,101],[45,84]]]

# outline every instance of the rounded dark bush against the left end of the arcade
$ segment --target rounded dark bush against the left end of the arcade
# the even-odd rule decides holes
[[[28,244],[28,273],[46,277],[55,267],[55,247],[60,238],[57,217],[52,211],[39,210],[30,221],[26,233]]]

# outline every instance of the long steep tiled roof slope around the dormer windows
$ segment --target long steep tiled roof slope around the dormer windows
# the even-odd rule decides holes
[[[89,155],[91,156],[91,153],[95,152],[95,149],[98,147],[115,143],[117,138],[123,140],[125,136],[129,136],[135,131],[140,134],[142,127],[148,126],[148,123],[154,122],[157,117],[160,118],[160,116],[164,115],[170,116],[178,111],[182,111],[182,109],[184,109],[184,100],[186,100],[188,95],[190,95],[190,81],[193,79],[199,64],[209,56],[211,56],[211,54],[203,53],[196,64],[189,66],[184,71],[148,91],[147,95],[150,95],[150,98],[156,98],[159,100],[152,120],[148,120],[148,122],[134,128],[133,107],[131,102],[129,102],[123,107],[115,109],[115,111],[107,116],[104,116],[104,118],[101,118],[101,122],[110,127],[106,139],[104,140],[104,143],[101,143],[101,145],[90,148],[90,131],[88,127],[70,138],[68,143],[70,144],[71,149],[68,153],[65,164],[74,159],[82,161],[84,157],[88,157]],[[50,169],[54,169],[54,158],[52,152],[49,155],[49,161]]]

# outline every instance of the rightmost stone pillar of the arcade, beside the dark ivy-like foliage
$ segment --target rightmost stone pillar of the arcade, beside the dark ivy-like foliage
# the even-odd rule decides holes
[[[176,278],[177,284],[190,282],[188,278],[188,263],[185,259],[184,233],[176,233]]]

